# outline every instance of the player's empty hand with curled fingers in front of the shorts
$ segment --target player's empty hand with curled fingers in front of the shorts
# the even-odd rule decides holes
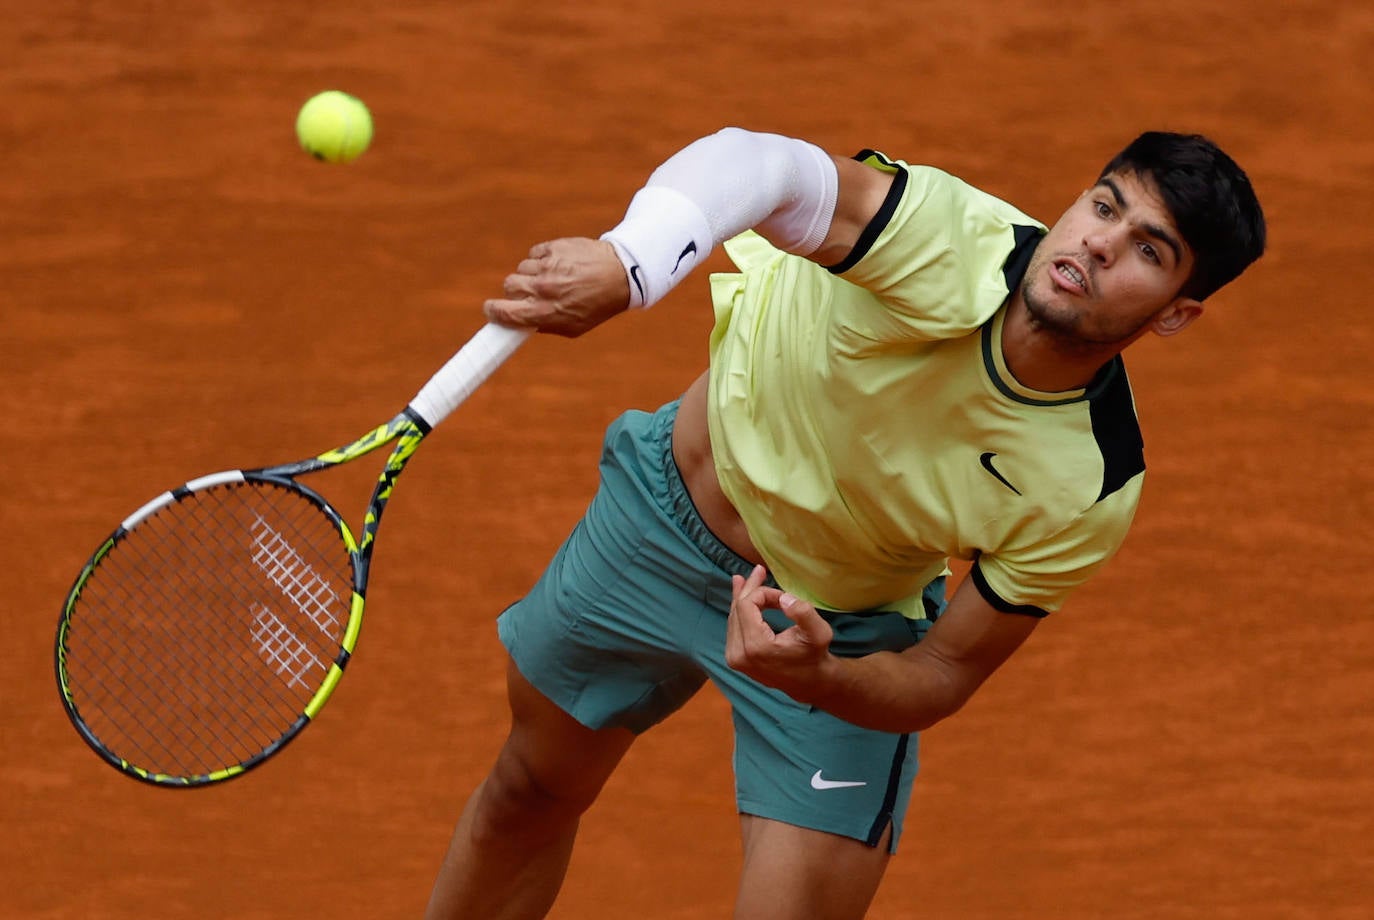
[[[834,630],[813,606],[764,585],[767,574],[763,566],[754,566],[749,578],[731,577],[734,600],[725,625],[725,663],[809,703],[823,689]],[[793,626],[775,633],[764,619],[767,608],[780,610]]]

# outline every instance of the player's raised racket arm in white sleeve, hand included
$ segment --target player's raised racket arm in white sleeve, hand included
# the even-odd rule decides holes
[[[508,325],[580,335],[661,301],[721,242],[756,229],[822,264],[841,261],[892,177],[794,137],[725,128],[653,172],[600,240],[540,243],[484,305]]]

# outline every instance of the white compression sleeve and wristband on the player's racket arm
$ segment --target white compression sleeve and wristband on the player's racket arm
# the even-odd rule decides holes
[[[815,144],[725,128],[655,169],[602,239],[625,265],[629,305],[653,306],[746,229],[811,255],[830,232],[838,191],[835,163]]]

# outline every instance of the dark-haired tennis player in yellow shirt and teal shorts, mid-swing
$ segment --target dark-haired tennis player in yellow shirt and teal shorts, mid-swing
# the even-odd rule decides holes
[[[860,917],[955,713],[1117,551],[1145,475],[1121,352],[1264,250],[1245,173],[1146,133],[1050,229],[929,166],[724,129],[600,239],[534,246],[491,320],[576,336],[717,246],[710,367],[606,433],[600,487],[499,621],[510,737],[429,916],[541,917],[640,732],[713,681],[736,917]],[[949,559],[971,562],[945,599]]]

